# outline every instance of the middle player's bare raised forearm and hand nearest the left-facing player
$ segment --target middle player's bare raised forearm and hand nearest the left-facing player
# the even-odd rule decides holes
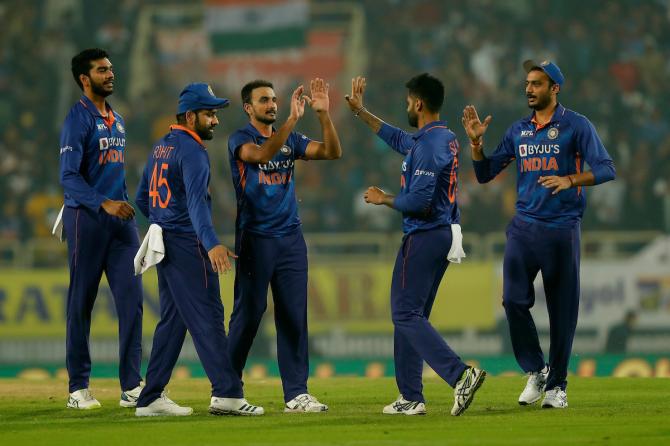
[[[328,98],[329,85],[323,79],[316,78],[310,81],[311,97],[304,96],[307,103],[314,109],[321,123],[323,142],[310,141],[305,150],[305,159],[334,160],[342,157],[340,137],[337,135],[333,121],[330,119]]]

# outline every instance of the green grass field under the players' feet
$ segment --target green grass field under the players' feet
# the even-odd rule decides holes
[[[118,407],[114,380],[93,380],[103,404],[95,411],[65,409],[61,380],[0,380],[0,443],[3,445],[551,445],[670,444],[670,380],[571,378],[570,407],[520,407],[522,377],[489,377],[472,406],[452,417],[452,390],[427,379],[428,415],[382,415],[397,396],[389,378],[311,379],[310,390],[330,405],[324,414],[284,414],[278,380],[249,381],[249,400],[262,417],[215,417],[207,413],[204,379],[173,380],[170,397],[190,405],[184,418],[138,419]]]

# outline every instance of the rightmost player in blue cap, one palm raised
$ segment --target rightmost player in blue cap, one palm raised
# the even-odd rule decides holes
[[[498,147],[484,155],[482,136],[491,116],[481,122],[474,106],[463,110],[472,161],[480,183],[491,181],[516,160],[516,215],[507,227],[503,263],[503,305],[514,355],[529,374],[519,404],[568,406],[568,363],[579,309],[580,222],[584,186],[615,177],[614,163],[589,120],[563,107],[557,96],[564,82],[553,62],[523,64],[526,97],[533,112],[507,129]],[[590,171],[584,170],[586,162]],[[549,313],[549,362],[540,348],[530,308],[533,281],[542,273]]]

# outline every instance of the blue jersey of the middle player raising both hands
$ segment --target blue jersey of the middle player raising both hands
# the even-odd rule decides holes
[[[274,134],[275,129],[272,129]],[[228,139],[228,156],[237,196],[238,231],[266,237],[282,237],[300,227],[293,174],[295,160],[304,158],[310,139],[291,132],[284,146],[265,164],[247,163],[239,158],[246,143],[261,145],[266,137],[251,124]]]

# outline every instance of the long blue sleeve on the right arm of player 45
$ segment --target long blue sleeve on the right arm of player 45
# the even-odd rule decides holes
[[[186,206],[198,239],[209,251],[221,244],[207,205],[207,184],[209,182],[209,162],[207,154],[200,148],[182,158],[181,169],[186,189]]]

